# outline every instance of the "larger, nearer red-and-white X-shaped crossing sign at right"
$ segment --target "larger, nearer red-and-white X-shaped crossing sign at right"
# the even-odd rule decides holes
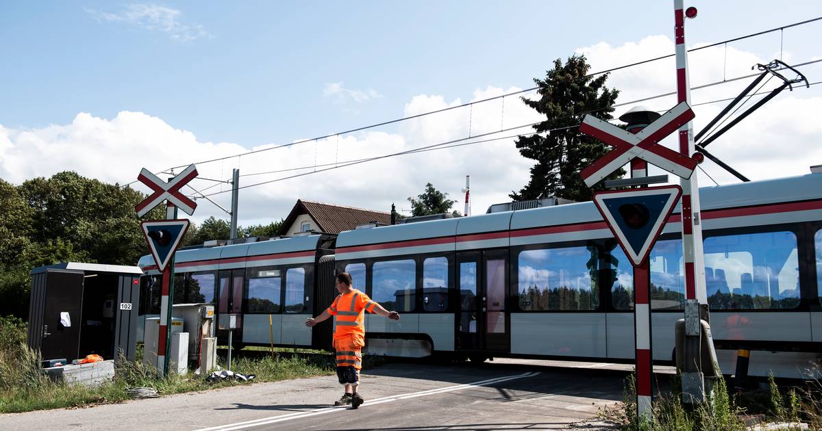
[[[690,110],[688,103],[682,102],[634,135],[609,122],[586,115],[580,124],[580,131],[611,145],[614,149],[580,171],[585,185],[593,186],[630,162],[632,158],[642,158],[674,175],[690,178],[696,168],[696,161],[663,147],[658,142],[693,118],[694,112]]]

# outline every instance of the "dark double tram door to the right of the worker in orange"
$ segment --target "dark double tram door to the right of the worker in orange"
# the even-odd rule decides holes
[[[457,254],[459,350],[509,351],[506,322],[507,250]]]

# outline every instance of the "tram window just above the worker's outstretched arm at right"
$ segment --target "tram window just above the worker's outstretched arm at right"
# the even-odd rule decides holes
[[[389,311],[413,311],[417,264],[412,259],[375,262],[372,265],[372,300]]]

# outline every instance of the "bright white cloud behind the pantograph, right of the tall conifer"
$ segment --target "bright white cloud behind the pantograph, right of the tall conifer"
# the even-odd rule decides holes
[[[695,47],[704,44],[695,44]],[[693,48],[693,47],[691,47]],[[592,71],[605,70],[646,58],[659,57],[673,53],[674,45],[667,36],[649,36],[639,43],[626,43],[611,46],[605,43],[579,48],[577,53],[584,53],[589,58]],[[688,57],[691,87],[708,85],[737,76],[757,73],[751,70],[758,63],[766,63],[778,57],[779,53],[750,53],[724,45],[704,48]],[[806,62],[810,57],[799,57],[796,53],[784,52],[783,58],[790,62]],[[617,103],[642,99],[656,94],[670,93],[676,90],[674,58],[650,62],[641,66],[630,67],[612,72],[607,86],[620,89]],[[808,76],[818,76],[822,67],[811,65],[801,68]],[[814,73],[815,72],[815,73]],[[785,73],[785,72],[783,72]],[[787,77],[792,77],[785,73]],[[754,78],[737,80],[722,85],[712,85],[704,89],[695,89],[691,93],[691,104],[696,114],[694,131],[699,132],[729,102],[701,104],[718,99],[734,98]],[[781,82],[770,80],[761,91],[774,89]],[[731,165],[737,171],[752,180],[775,177],[787,177],[809,173],[808,167],[822,163],[822,147],[816,144],[822,135],[822,124],[815,117],[822,112],[822,98],[815,87],[810,91],[795,86],[796,90],[785,90],[775,99],[742,120],[737,126],[727,131],[722,137],[709,145],[709,151]],[[757,96],[761,97],[761,96]],[[754,99],[754,101],[756,98]],[[677,103],[676,96],[668,96],[641,102],[642,105],[657,111],[672,108]],[[752,102],[751,102],[752,103]],[[633,104],[617,108],[614,117],[632,108]],[[750,103],[749,105],[750,106]],[[742,108],[744,110],[746,108]],[[741,111],[740,111],[741,112]],[[669,148],[677,148],[673,137],[663,140]],[[797,157],[799,155],[799,157]],[[700,165],[710,177],[720,184],[737,182],[736,177],[710,161]],[[651,175],[666,173],[651,167]],[[713,185],[703,172],[699,172],[700,186]],[[674,179],[673,176],[670,176]],[[678,180],[677,180],[678,181]]]

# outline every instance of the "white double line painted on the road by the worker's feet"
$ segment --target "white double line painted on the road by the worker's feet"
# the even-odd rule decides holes
[[[381,397],[381,398],[376,398],[372,401],[368,401],[367,403],[363,404],[363,406],[361,406],[360,408],[367,407],[367,406],[374,406],[376,404],[383,404],[383,403],[386,403],[386,402],[394,402],[394,401],[404,400],[404,399],[408,399],[408,398],[414,398],[414,397],[426,397],[428,395],[439,395],[441,393],[459,391],[461,389],[467,389],[469,387],[487,386],[487,385],[491,385],[491,384],[494,384],[494,383],[501,383],[501,382],[507,382],[509,380],[515,380],[517,378],[532,377],[532,376],[535,376],[537,374],[539,374],[539,372],[515,374],[515,375],[511,375],[511,376],[507,376],[507,377],[489,378],[487,380],[480,380],[478,382],[473,382],[473,383],[465,383],[465,384],[449,386],[449,387],[439,387],[439,388],[436,388],[436,389],[430,389],[428,391],[413,392],[413,393],[408,393],[408,394],[404,394],[404,395],[393,395],[393,396],[390,396],[390,397]],[[212,427],[212,428],[199,429],[197,431],[218,431],[218,430],[219,431],[230,431],[230,430],[233,430],[233,429],[244,429],[244,428],[251,428],[251,427],[256,427],[256,426],[266,425],[266,424],[275,424],[277,422],[284,422],[286,420],[302,419],[302,418],[307,418],[307,417],[316,416],[316,415],[325,415],[327,413],[335,413],[335,412],[344,411],[344,410],[349,410],[349,407],[348,406],[323,407],[321,409],[316,409],[316,410],[298,411],[298,412],[294,412],[294,413],[288,413],[288,414],[285,414],[285,415],[270,416],[270,417],[267,417],[267,418],[256,419],[256,420],[247,420],[245,422],[238,422],[236,424],[219,425],[219,426]]]

